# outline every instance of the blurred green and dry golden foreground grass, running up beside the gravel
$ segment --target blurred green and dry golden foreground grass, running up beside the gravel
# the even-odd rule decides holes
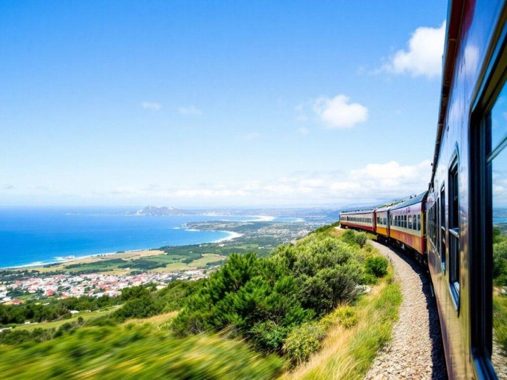
[[[330,229],[327,233],[337,237],[342,232]],[[334,326],[322,350],[291,372],[282,373],[281,358],[263,357],[242,341],[215,334],[174,337],[168,331],[173,312],[117,326],[82,327],[40,344],[0,346],[0,373],[2,378],[17,379],[269,379],[280,375],[283,379],[359,379],[389,340],[397,319],[401,292],[390,271],[354,305],[359,323],[349,330]]]

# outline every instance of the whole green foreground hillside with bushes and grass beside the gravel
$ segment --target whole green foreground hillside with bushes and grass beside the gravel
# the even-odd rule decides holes
[[[96,318],[5,330],[0,373],[320,379],[352,370],[359,378],[388,341],[401,301],[387,260],[367,238],[324,227],[268,257],[231,254],[208,279],[126,288],[121,306]]]

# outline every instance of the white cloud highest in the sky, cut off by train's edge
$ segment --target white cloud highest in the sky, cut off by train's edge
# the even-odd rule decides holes
[[[437,77],[442,72],[445,21],[438,28],[421,26],[410,37],[407,50],[399,50],[380,70],[395,74],[409,72],[413,77]]]

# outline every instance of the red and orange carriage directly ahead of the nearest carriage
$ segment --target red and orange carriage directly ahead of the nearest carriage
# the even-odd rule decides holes
[[[424,241],[424,203],[427,192],[391,206],[389,214],[389,237],[420,253],[426,253]]]

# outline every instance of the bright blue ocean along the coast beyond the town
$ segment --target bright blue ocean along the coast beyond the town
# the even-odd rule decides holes
[[[255,220],[247,216],[125,215],[132,209],[0,208],[0,268],[88,256],[213,242],[223,231],[191,231],[187,222]],[[295,218],[278,218],[295,221]]]

